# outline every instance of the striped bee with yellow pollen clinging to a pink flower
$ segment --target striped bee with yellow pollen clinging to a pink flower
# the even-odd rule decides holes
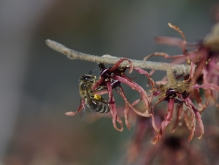
[[[91,87],[96,82],[96,76],[84,74],[79,79],[79,94],[85,104],[93,111],[107,113],[110,111],[108,102],[98,94],[94,94]],[[101,90],[102,87],[97,90]]]

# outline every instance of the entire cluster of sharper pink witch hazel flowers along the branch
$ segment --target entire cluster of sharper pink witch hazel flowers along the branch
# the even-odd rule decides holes
[[[154,53],[147,56],[144,60],[147,60],[151,56],[163,56],[165,58],[173,59],[173,64],[184,63],[190,65],[189,75],[175,75],[171,68],[167,68],[167,77],[165,80],[155,82],[151,75],[147,71],[133,67],[132,61],[127,58],[121,58],[112,67],[107,68],[103,63],[99,64],[100,77],[94,81],[91,86],[91,91],[94,98],[101,95],[108,94],[107,105],[112,116],[112,123],[116,130],[123,131],[123,124],[121,118],[118,116],[115,97],[113,90],[115,90],[124,100],[124,118],[125,124],[130,129],[128,121],[129,110],[133,110],[137,115],[151,118],[152,128],[155,130],[155,137],[152,143],[157,143],[161,140],[161,137],[166,128],[173,122],[172,132],[175,131],[183,119],[185,125],[190,130],[188,141],[191,141],[195,130],[196,123],[198,123],[200,129],[199,139],[204,134],[204,125],[201,119],[201,113],[210,103],[214,103],[217,108],[218,91],[219,91],[219,24],[213,30],[213,34],[209,35],[202,42],[197,44],[189,44],[186,42],[183,32],[176,26],[169,24],[169,26],[178,31],[183,39],[171,38],[171,37],[157,37],[156,40],[159,43],[179,46],[182,48],[183,54],[169,56],[166,53]],[[217,33],[216,39],[215,33]],[[195,46],[195,50],[187,51],[187,47]],[[124,65],[123,62],[127,62],[129,65]],[[151,87],[150,94],[145,89],[129,78],[126,74],[126,70],[129,73],[136,71],[139,74],[143,74],[149,80]],[[152,73],[152,72],[151,72]],[[131,89],[138,92],[140,98],[134,102],[128,101],[125,95],[125,91],[122,88],[122,84],[127,85]],[[200,89],[204,93],[205,102],[203,103]],[[98,101],[98,98],[95,98]],[[144,111],[140,111],[136,108],[139,102],[143,102]],[[198,107],[195,106],[195,103]],[[161,102],[167,103],[167,112],[163,108],[162,111],[166,112],[160,126],[157,126],[155,116],[157,114],[155,107]],[[86,103],[84,102],[83,106]],[[81,111],[83,107],[79,107]],[[174,116],[174,111],[176,115]],[[68,113],[69,115],[75,114],[74,112]],[[174,118],[175,117],[175,118]],[[148,122],[148,121],[147,121]],[[119,124],[119,127],[117,126]]]

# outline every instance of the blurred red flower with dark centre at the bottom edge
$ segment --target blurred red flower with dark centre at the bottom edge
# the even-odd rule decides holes
[[[168,135],[156,146],[145,148],[139,164],[144,165],[207,165],[205,156],[183,136]]]

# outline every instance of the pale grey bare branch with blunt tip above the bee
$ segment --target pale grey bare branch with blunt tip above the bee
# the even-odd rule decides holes
[[[52,41],[50,39],[46,40],[46,44],[51,48],[54,49],[62,54],[65,54],[68,58],[71,60],[84,60],[89,62],[95,62],[95,63],[104,63],[104,64],[115,64],[117,61],[119,61],[122,57],[115,57],[111,55],[103,55],[100,56],[94,56],[90,54],[81,53],[72,49],[69,49],[65,47],[64,45]],[[173,65],[169,63],[164,62],[152,62],[152,61],[143,61],[143,60],[134,60],[129,59],[132,61],[133,67],[138,68],[144,68],[144,69],[153,69],[153,70],[161,70],[161,71],[167,71],[168,68],[172,68],[172,70],[178,74],[178,75],[187,75],[190,73],[190,67],[186,65]],[[122,65],[129,65],[127,61],[124,61]]]

